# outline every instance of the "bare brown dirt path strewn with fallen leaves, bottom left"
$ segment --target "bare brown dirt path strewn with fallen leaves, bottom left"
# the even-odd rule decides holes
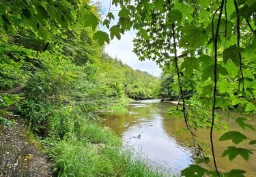
[[[23,123],[0,124],[0,177],[53,175],[53,163],[28,135]]]

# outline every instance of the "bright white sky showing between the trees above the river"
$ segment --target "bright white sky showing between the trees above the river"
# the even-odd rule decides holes
[[[97,2],[99,0],[92,0]],[[109,11],[109,0],[101,0],[102,3],[102,13],[104,16]],[[118,7],[115,5],[111,5],[111,12],[114,14],[115,19],[118,19]],[[115,23],[115,22],[114,22]],[[105,29],[107,30],[107,29]],[[106,31],[107,32],[107,31]],[[154,61],[139,61],[138,57],[133,49],[132,39],[136,36],[136,31],[131,30],[122,35],[121,40],[118,40],[116,37],[107,44],[105,47],[106,53],[108,53],[111,57],[117,57],[117,59],[121,59],[123,63],[126,63],[133,69],[139,69],[141,71],[147,71],[154,76],[160,76],[161,69],[154,63]]]

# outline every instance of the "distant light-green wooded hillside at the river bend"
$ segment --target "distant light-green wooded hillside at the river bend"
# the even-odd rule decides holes
[[[102,80],[112,88],[110,96],[130,97],[132,99],[157,98],[160,80],[145,71],[134,70],[121,60],[112,59],[107,54],[101,58]]]

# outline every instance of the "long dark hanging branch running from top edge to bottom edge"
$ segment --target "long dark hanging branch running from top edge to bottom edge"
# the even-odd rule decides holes
[[[213,127],[214,127],[216,95],[217,95],[218,31],[219,31],[219,28],[221,25],[221,16],[223,14],[224,2],[225,2],[225,0],[222,0],[221,6],[219,7],[220,13],[218,15],[218,24],[217,24],[217,28],[216,28],[215,37],[214,37],[214,16],[215,16],[216,12],[218,11],[218,9],[216,10],[216,12],[214,13],[214,16],[212,17],[212,38],[214,39],[214,95],[213,95],[214,102],[213,102],[213,106],[212,106],[212,126],[211,126],[211,131],[210,131],[210,140],[211,140],[211,146],[212,146],[212,157],[214,159],[214,167],[215,167],[215,170],[216,170],[216,173],[218,176],[221,176],[221,175],[218,172],[218,167],[216,164],[216,158],[215,158],[215,154],[214,154],[214,143],[212,140],[212,133],[213,133]]]

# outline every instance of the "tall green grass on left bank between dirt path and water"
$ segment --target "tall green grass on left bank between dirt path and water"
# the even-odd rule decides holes
[[[164,176],[130,150],[120,150],[121,139],[111,130],[89,124],[82,132],[80,140],[44,140],[57,176]]]

